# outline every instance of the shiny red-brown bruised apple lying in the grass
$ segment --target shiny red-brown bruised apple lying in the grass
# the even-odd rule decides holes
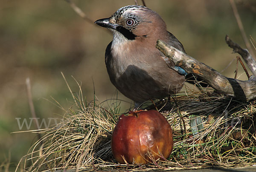
[[[121,164],[146,164],[152,159],[168,158],[173,149],[172,128],[156,110],[121,115],[112,134],[111,148]]]

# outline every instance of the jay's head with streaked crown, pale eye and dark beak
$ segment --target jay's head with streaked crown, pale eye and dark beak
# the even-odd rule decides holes
[[[167,33],[163,19],[145,6],[122,7],[111,17],[99,19],[95,23],[111,29],[114,37],[124,40],[150,39]]]

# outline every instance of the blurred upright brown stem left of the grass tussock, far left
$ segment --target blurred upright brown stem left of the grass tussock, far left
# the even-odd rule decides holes
[[[31,92],[31,83],[29,77],[26,78],[26,89],[27,89],[27,95],[28,95],[28,101],[29,101],[29,108],[32,115],[32,118],[34,118],[35,127],[39,130],[38,120],[36,120],[36,114],[35,114],[35,106],[32,100],[32,92]],[[38,140],[41,139],[40,133],[38,133]]]

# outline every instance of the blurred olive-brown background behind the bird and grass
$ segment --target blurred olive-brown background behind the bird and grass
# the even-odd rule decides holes
[[[74,2],[93,21],[134,4],[134,0]],[[240,46],[245,45],[228,0],[145,0],[145,3],[166,21],[168,30],[183,43],[190,56],[227,77],[234,77],[237,54],[231,54],[225,35]],[[236,0],[236,4],[247,37],[252,35],[256,40],[256,1]],[[21,122],[23,119],[29,122],[31,118],[27,77],[40,119],[65,114],[55,100],[64,109],[72,105],[61,72],[73,92],[78,93],[79,87],[71,76],[82,83],[87,100],[93,100],[94,88],[99,102],[116,94],[104,62],[105,48],[111,40],[107,29],[83,20],[64,0],[0,0],[0,164],[9,164],[13,171],[37,139],[30,132],[11,133],[26,130],[25,126],[19,129],[15,118],[21,118]],[[238,76],[246,80],[241,67]],[[118,98],[128,100],[121,94]],[[128,109],[131,103],[128,100],[123,109]],[[35,129],[33,123],[30,129]]]

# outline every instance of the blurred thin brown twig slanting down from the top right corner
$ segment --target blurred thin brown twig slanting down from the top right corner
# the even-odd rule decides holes
[[[249,40],[247,39],[246,37],[246,34],[245,34],[245,31],[244,31],[244,26],[243,26],[243,23],[241,21],[241,18],[240,18],[240,15],[238,13],[238,10],[236,8],[236,3],[234,2],[234,0],[230,0],[230,4],[232,6],[232,9],[233,9],[233,13],[236,17],[236,22],[237,22],[237,25],[240,29],[240,32],[242,34],[242,37],[243,37],[243,40],[244,40],[244,43],[245,43],[245,46],[246,48],[249,50],[250,54],[255,57],[254,53],[253,53],[253,49],[252,47],[250,46],[250,43],[249,43]]]

